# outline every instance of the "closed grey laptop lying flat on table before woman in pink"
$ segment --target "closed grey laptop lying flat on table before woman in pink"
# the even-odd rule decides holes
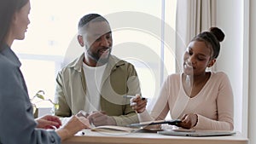
[[[165,130],[158,131],[160,135],[176,135],[176,136],[194,136],[194,137],[203,137],[203,136],[226,136],[226,135],[236,135],[235,131],[224,131],[224,130]]]

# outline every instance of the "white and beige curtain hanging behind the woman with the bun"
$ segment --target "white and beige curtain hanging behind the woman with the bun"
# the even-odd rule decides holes
[[[182,71],[183,53],[189,41],[215,26],[215,0],[177,0],[176,71]]]

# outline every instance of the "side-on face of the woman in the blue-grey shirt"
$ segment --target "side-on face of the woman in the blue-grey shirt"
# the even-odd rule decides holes
[[[15,12],[10,28],[13,39],[22,40],[25,38],[27,26],[30,24],[30,20],[28,18],[30,9],[30,2],[28,1],[26,5],[24,5],[20,10]]]

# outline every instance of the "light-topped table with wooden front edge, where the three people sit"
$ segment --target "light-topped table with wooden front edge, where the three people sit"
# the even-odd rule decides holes
[[[189,137],[159,135],[156,133],[105,134],[84,130],[63,144],[247,144],[248,139],[239,133],[229,136]]]

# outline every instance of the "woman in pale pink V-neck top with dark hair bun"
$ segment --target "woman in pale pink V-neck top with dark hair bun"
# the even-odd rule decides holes
[[[233,130],[233,92],[224,72],[208,72],[218,58],[224,32],[212,27],[189,43],[183,55],[183,72],[170,75],[163,84],[160,97],[148,114],[147,101],[139,95],[131,99],[141,122],[181,119],[177,126],[194,130]]]

